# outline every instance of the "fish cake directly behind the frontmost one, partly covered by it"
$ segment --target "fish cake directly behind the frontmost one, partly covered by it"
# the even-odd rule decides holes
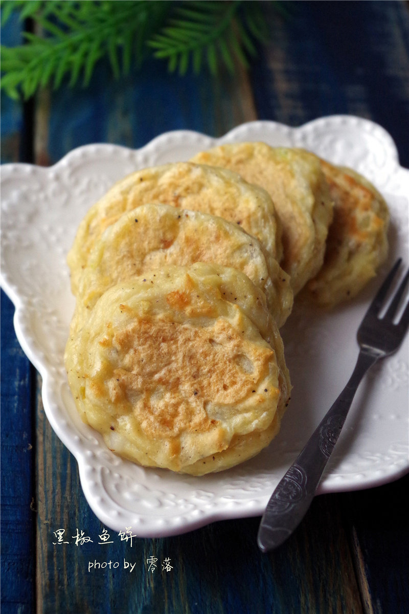
[[[289,276],[239,225],[199,211],[143,204],[124,213],[96,241],[78,281],[73,330],[109,287],[169,264],[210,262],[245,273],[266,294],[278,326],[292,308]]]

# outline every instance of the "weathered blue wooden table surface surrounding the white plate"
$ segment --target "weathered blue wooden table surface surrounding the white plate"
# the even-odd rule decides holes
[[[90,142],[140,147],[168,130],[221,136],[254,119],[297,126],[353,114],[386,128],[409,167],[408,3],[287,4],[288,18],[266,4],[270,40],[234,77],[179,77],[150,60],[118,81],[101,64],[90,87],[42,90],[24,105],[2,95],[2,162],[51,165]],[[2,42],[17,37],[11,23]],[[95,536],[104,526],[45,418],[39,375],[15,338],[10,300],[1,299],[3,614],[409,612],[408,476],[316,497],[288,542],[266,555],[256,545],[259,518],[132,546],[117,538],[104,554],[98,539],[59,545],[59,528]],[[90,568],[94,561],[107,564]]]

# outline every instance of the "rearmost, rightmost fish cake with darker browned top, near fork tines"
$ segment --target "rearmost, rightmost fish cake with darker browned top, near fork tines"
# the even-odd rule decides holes
[[[324,264],[305,297],[326,308],[356,296],[388,254],[389,211],[383,196],[352,169],[322,160],[334,200]]]

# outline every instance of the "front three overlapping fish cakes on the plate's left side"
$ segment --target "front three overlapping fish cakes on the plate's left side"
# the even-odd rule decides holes
[[[144,169],[90,209],[68,258],[65,360],[110,449],[203,475],[270,443],[291,389],[280,253],[270,196],[223,169]]]

